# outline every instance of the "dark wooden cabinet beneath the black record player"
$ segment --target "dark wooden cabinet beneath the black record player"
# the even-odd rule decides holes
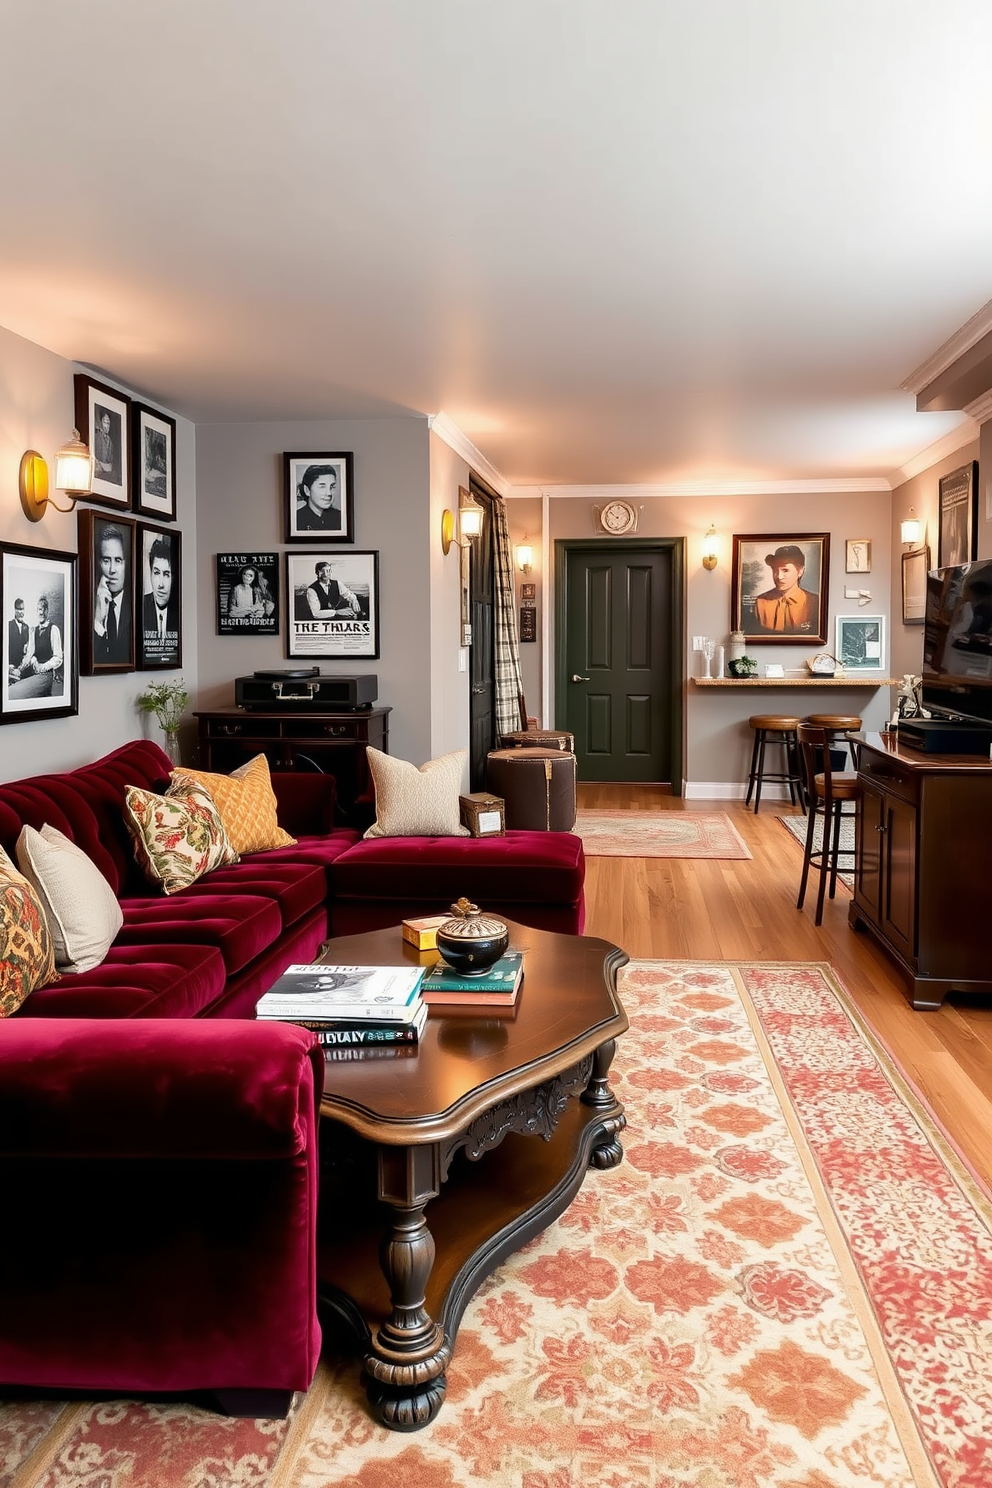
[[[314,769],[333,775],[338,809],[348,826],[369,826],[375,792],[366,748],[390,751],[391,708],[354,713],[266,711],[216,708],[198,713],[201,769],[231,774],[265,754],[269,769]]]

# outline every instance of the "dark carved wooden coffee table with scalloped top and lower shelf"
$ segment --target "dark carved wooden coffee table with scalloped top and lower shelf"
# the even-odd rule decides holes
[[[479,1283],[556,1219],[586,1168],[613,1168],[623,1107],[607,1082],[628,1027],[626,954],[510,924],[512,1009],[433,1007],[419,1045],[336,1049],[321,1104],[321,1311],[358,1342],[369,1402],[397,1431],[445,1399]],[[324,960],[428,966],[399,926],[330,940]],[[534,1140],[540,1138],[540,1140]]]

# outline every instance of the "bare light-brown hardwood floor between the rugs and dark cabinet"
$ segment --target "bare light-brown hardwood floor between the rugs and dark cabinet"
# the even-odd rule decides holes
[[[794,808],[763,801],[674,798],[657,786],[580,784],[579,805],[601,811],[724,811],[754,854],[724,859],[586,859],[586,934],[631,957],[693,961],[828,961],[854,1003],[924,1092],[986,1184],[992,1186],[992,998],[947,1000],[915,1012],[903,979],[867,934],[848,926],[837,887],[814,926],[815,884],[796,909],[802,848],[778,821]],[[992,954],[992,927],[989,934]]]

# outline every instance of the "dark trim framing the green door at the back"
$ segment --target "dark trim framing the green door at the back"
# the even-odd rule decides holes
[[[565,640],[568,615],[568,555],[573,552],[668,554],[672,565],[669,659],[672,695],[669,750],[672,795],[686,793],[686,539],[684,537],[556,537],[555,539],[555,728],[564,728],[559,699],[567,696]]]

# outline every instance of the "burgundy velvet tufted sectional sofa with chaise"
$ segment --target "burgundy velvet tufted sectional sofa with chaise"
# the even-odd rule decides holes
[[[0,1021],[0,1192],[16,1257],[0,1272],[0,1397],[208,1391],[283,1414],[317,1367],[314,1036],[256,1024],[260,994],[329,934],[440,912],[461,894],[580,933],[570,833],[360,841],[333,781],[274,774],[274,848],[165,896],[125,826],[128,786],[161,792],[149,741],[0,784],[0,842],[24,824],[80,847],[123,926],[106,960]]]

